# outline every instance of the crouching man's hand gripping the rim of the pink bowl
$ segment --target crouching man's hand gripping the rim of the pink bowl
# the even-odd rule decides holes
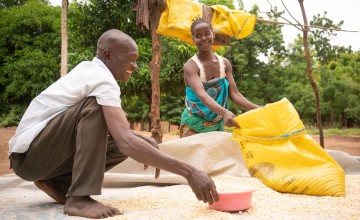
[[[216,186],[205,172],[195,169],[187,181],[199,201],[209,204],[219,201]]]

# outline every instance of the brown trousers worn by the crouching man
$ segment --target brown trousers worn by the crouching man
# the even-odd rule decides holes
[[[104,173],[126,158],[108,135],[95,97],[52,119],[27,152],[10,155],[19,177],[49,181],[67,196],[100,195]]]

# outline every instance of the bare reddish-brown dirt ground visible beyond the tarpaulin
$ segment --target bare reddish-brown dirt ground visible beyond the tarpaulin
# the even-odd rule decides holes
[[[9,169],[8,142],[14,135],[16,127],[0,128],[0,175],[12,173]],[[142,132],[150,136],[149,132]],[[319,136],[312,135],[314,140],[319,143]],[[178,135],[163,134],[163,142],[178,139]],[[353,156],[360,156],[360,135],[354,136],[329,136],[325,137],[325,149],[340,150]]]

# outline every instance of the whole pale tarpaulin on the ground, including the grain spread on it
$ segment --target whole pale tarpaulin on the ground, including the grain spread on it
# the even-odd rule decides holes
[[[226,132],[211,132],[160,144],[160,150],[214,178],[218,189],[252,186],[250,209],[226,213],[197,201],[185,179],[127,159],[105,174],[102,195],[93,198],[123,210],[114,219],[360,219],[360,161],[340,151],[327,152],[346,174],[345,197],[276,192],[249,176],[238,143]],[[321,177],[320,177],[321,178]],[[0,219],[83,219],[63,214],[32,182],[14,174],[0,176]]]

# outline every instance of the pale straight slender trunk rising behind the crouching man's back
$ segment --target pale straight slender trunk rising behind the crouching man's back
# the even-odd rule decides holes
[[[65,76],[67,74],[67,49],[68,49],[68,39],[67,39],[67,0],[62,0],[61,4],[61,68],[60,76]]]

